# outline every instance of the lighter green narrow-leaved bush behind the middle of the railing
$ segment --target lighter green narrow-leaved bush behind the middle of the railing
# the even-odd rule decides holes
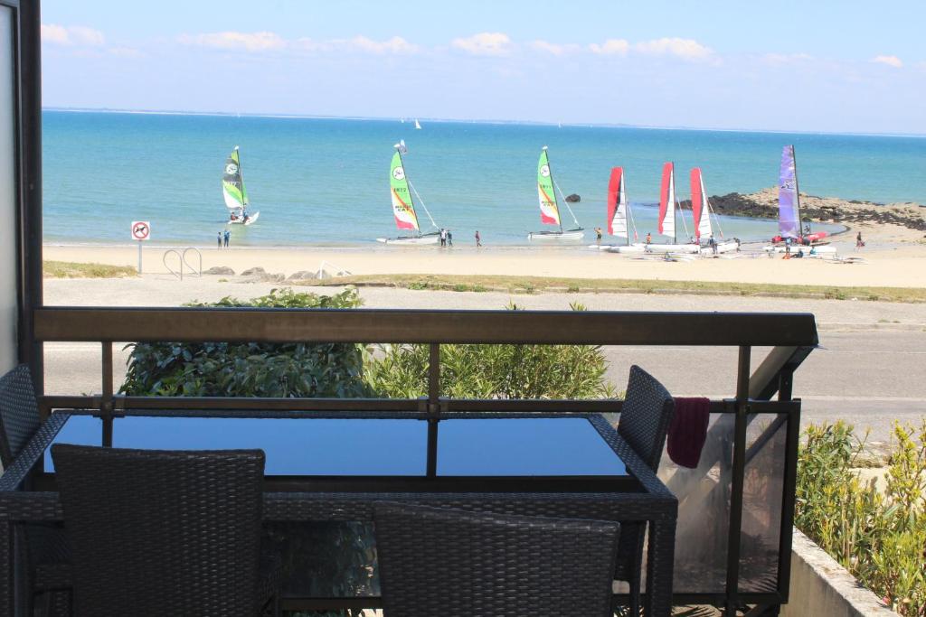
[[[519,310],[515,304],[508,306]],[[573,310],[584,310],[573,304]],[[428,345],[381,345],[366,366],[379,396],[428,392]],[[461,399],[611,398],[607,361],[594,345],[441,345],[441,396]]]

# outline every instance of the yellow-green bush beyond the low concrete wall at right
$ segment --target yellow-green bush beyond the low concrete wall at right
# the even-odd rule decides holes
[[[883,493],[854,471],[853,427],[808,426],[798,459],[795,525],[901,615],[926,615],[926,420],[919,443],[895,425]]]

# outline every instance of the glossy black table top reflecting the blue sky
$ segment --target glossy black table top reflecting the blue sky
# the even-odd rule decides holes
[[[415,419],[117,418],[113,447],[259,448],[267,475],[426,474],[428,424]],[[102,421],[74,415],[55,443],[99,446]],[[53,471],[45,450],[45,470]],[[454,418],[438,424],[437,475],[627,477],[588,419]]]

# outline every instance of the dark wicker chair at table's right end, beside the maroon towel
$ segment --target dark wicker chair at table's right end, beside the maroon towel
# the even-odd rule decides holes
[[[662,458],[675,405],[669,390],[636,364],[631,366],[627,393],[620,407],[618,434],[653,471]],[[618,567],[614,578],[631,586],[631,614],[640,614],[641,566],[645,525],[624,523],[620,529]]]

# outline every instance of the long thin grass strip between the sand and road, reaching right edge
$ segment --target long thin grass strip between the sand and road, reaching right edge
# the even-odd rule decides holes
[[[728,283],[697,280],[646,280],[635,278],[557,278],[501,275],[362,275],[312,281],[313,285],[357,285],[397,287],[409,290],[505,291],[507,293],[552,293],[580,289],[590,293],[697,293],[868,300],[882,302],[926,302],[926,289],[908,287],[832,287],[826,285],[776,285],[770,283]]]

